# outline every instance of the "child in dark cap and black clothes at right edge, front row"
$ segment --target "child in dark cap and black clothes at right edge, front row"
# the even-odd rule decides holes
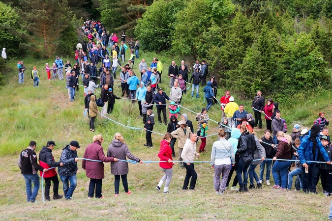
[[[323,129],[324,130],[324,129]],[[329,155],[330,160],[332,160],[332,148],[329,145],[329,140],[327,136],[321,138],[321,143]],[[323,155],[318,151],[318,161],[325,162]],[[332,195],[332,166],[326,163],[319,164],[319,173],[321,174],[321,183],[323,188],[323,193],[326,196]],[[318,181],[317,181],[318,182]]]

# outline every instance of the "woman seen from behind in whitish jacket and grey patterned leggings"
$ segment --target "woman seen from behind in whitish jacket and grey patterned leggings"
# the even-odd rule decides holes
[[[227,178],[231,170],[231,164],[235,164],[234,148],[232,143],[226,140],[224,129],[218,131],[219,140],[215,141],[211,150],[211,168],[214,169],[213,185],[216,194],[223,194],[226,189]],[[220,182],[220,175],[222,179]]]

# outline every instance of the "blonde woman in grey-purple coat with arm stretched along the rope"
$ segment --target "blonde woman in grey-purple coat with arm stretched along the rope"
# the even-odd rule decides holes
[[[120,133],[115,133],[112,143],[108,146],[107,157],[115,157],[119,160],[127,160],[126,157],[130,160],[137,161],[142,164],[143,161],[135,157],[129,151],[127,144],[124,143],[124,139]],[[123,161],[117,161],[111,163],[111,173],[114,175],[114,188],[115,188],[115,197],[119,196],[119,187],[120,187],[120,176],[122,179],[122,185],[124,192],[129,195],[131,191],[128,190],[127,174],[129,172],[128,163]]]

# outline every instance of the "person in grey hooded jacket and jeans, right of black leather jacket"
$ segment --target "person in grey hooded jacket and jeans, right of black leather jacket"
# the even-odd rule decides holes
[[[248,131],[248,132],[250,133],[250,131]],[[258,175],[257,175],[257,173],[255,171],[255,168],[256,168],[257,165],[260,165],[262,162],[265,161],[266,153],[265,153],[264,147],[262,146],[262,144],[258,140],[258,138],[256,136],[256,133],[252,132],[252,134],[254,135],[257,149],[256,149],[256,151],[254,153],[254,160],[255,161],[251,162],[251,165],[249,166],[249,169],[248,169],[249,180],[250,180],[249,189],[255,189],[255,188],[261,189],[262,188],[262,184],[261,184],[261,182],[260,182],[260,180],[258,178]],[[254,178],[255,178],[256,184],[257,184],[256,187],[254,185]]]

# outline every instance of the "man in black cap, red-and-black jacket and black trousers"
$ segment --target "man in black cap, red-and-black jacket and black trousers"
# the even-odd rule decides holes
[[[45,200],[50,201],[50,187],[51,181],[53,182],[53,199],[60,199],[62,195],[59,194],[59,179],[56,168],[50,169],[51,167],[63,166],[61,162],[55,162],[52,155],[52,150],[56,146],[53,140],[47,141],[46,146],[43,146],[39,153],[39,164],[41,167],[48,169],[44,173],[45,180]]]

